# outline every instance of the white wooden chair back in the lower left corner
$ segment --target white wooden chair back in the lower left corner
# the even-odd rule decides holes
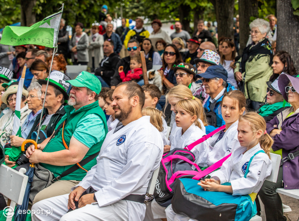
[[[0,193],[11,200],[10,207],[15,208],[16,204],[22,205],[23,198],[28,182],[28,176],[24,175],[26,169],[20,169],[20,172],[7,167],[4,164],[0,165]],[[9,210],[7,215],[11,216],[13,211]],[[6,221],[12,220],[12,217]]]

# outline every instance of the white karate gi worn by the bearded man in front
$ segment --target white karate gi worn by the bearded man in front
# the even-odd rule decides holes
[[[152,172],[160,166],[163,142],[149,118],[143,116],[115,133],[108,132],[97,164],[71,189],[92,186],[97,190],[96,203],[66,214],[68,194],[52,197],[32,209],[53,207],[53,214],[37,214],[32,220],[59,220],[62,216],[60,220],[142,221],[145,204],[121,199],[130,194],[144,195]]]

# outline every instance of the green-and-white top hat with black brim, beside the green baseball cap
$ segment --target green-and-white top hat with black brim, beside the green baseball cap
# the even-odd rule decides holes
[[[64,95],[64,98],[68,99],[67,91],[70,84],[67,81],[71,80],[71,78],[68,77],[66,74],[63,74],[62,72],[56,70],[51,71],[48,78],[49,78],[49,85],[52,85],[57,89],[59,89]],[[46,78],[45,80],[38,80],[38,83],[40,85],[47,84],[48,78]]]

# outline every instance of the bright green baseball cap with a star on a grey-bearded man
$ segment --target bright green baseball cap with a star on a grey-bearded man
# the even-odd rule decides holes
[[[100,80],[87,71],[82,71],[74,80],[67,80],[66,82],[75,87],[87,87],[94,91],[97,95],[102,89]]]

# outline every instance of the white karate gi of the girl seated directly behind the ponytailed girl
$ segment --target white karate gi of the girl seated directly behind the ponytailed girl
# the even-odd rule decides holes
[[[237,131],[238,122],[239,121],[236,121],[234,124],[232,124],[225,131],[221,140],[219,140],[217,143],[216,141],[218,139],[220,131],[210,138],[210,152],[208,153],[207,159],[208,166],[211,166],[212,164],[221,160],[223,157],[230,154],[234,149],[240,147]]]

